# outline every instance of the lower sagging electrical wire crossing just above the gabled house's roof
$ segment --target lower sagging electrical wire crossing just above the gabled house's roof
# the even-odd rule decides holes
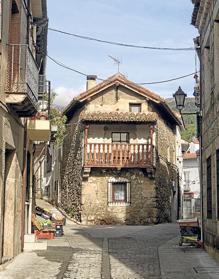
[[[80,75],[83,75],[83,76],[87,76],[86,73],[83,73],[83,72],[78,71],[78,70],[76,70],[76,69],[73,69],[73,68],[71,68],[71,67],[69,67],[69,66],[66,66],[65,64],[63,64],[62,62],[57,61],[56,59],[52,58],[52,57],[49,56],[48,54],[47,54],[47,57],[48,57],[51,61],[53,61],[53,63],[55,63],[56,65],[58,65],[58,66],[60,66],[60,67],[62,67],[62,68],[64,68],[64,69],[70,70],[70,71],[72,71],[72,72],[75,72],[75,73],[80,74]],[[179,76],[179,77],[175,77],[175,78],[171,78],[171,79],[167,79],[167,80],[152,81],[152,82],[140,82],[140,83],[136,83],[136,84],[138,84],[138,85],[152,85],[152,84],[167,83],[167,82],[171,82],[171,81],[183,79],[183,78],[186,78],[186,77],[190,77],[190,76],[193,76],[193,75],[195,75],[195,74],[196,74],[196,73],[194,72],[194,73],[191,73],[191,74],[187,74],[187,75],[183,75],[183,76]],[[106,79],[97,77],[97,80],[104,81],[104,80],[106,80]]]

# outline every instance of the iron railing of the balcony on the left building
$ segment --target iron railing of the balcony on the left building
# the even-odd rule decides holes
[[[12,44],[8,46],[8,95],[16,94],[17,100],[28,97],[36,105],[38,101],[38,67],[28,45]],[[10,98],[9,98],[10,100]],[[13,97],[16,102],[16,96]]]

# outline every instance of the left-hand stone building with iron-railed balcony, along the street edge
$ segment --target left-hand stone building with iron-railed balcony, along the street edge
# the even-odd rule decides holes
[[[0,1],[0,264],[19,254],[31,233],[34,141],[47,140],[37,114],[45,73],[46,0]]]

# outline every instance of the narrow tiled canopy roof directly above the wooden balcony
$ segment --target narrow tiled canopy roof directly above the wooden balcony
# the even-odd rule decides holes
[[[156,122],[155,113],[133,112],[87,112],[80,116],[82,121],[87,122]]]

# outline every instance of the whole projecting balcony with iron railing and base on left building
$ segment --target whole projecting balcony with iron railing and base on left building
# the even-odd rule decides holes
[[[8,46],[6,102],[20,117],[37,111],[39,72],[34,56],[26,44]]]

